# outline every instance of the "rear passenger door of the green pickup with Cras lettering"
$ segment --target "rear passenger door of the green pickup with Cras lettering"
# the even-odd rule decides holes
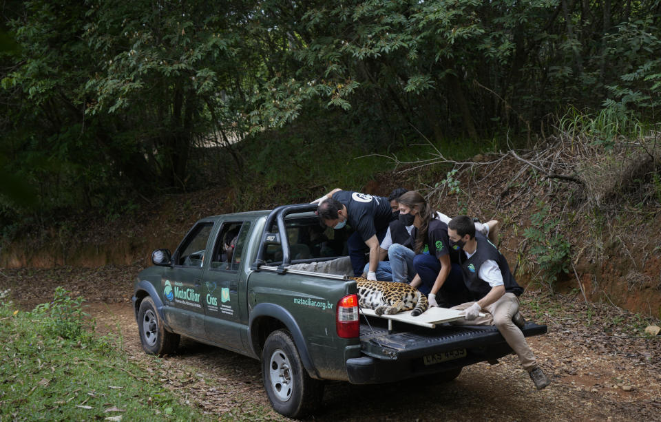
[[[241,333],[245,327],[240,319],[239,270],[250,226],[250,222],[244,221],[226,221],[222,224],[202,286],[207,338],[235,350],[244,349]]]

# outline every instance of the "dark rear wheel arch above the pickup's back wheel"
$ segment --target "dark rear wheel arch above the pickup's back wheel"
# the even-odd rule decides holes
[[[288,310],[275,304],[258,304],[250,313],[248,326],[250,348],[260,360],[262,359],[262,349],[266,337],[269,337],[269,334],[275,330],[282,328],[288,330],[294,340],[304,368],[308,371],[310,377],[320,379],[319,372],[317,372],[317,368],[308,352],[305,337]]]

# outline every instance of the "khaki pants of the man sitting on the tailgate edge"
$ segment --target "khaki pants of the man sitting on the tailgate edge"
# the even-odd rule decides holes
[[[466,302],[465,304],[453,306],[452,309],[464,310],[474,303],[475,302]],[[477,317],[470,321],[468,319],[460,319],[459,321],[452,322],[452,324],[470,326],[495,325],[501,335],[505,338],[505,341],[507,341],[507,344],[509,344],[512,350],[514,350],[518,359],[521,360],[523,369],[530,372],[532,368],[537,366],[537,361],[532,350],[530,350],[526,343],[523,333],[521,333],[521,330],[514,325],[514,322],[512,322],[512,317],[518,312],[518,306],[518,297],[516,297],[514,293],[505,293],[505,295],[496,300],[496,302],[483,309],[487,311],[485,317]]]

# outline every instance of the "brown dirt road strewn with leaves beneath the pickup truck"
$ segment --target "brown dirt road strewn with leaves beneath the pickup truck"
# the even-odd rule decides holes
[[[23,306],[33,306],[40,299],[48,301],[57,280],[66,278],[68,288],[90,299],[97,330],[114,333],[127,359],[146,366],[183,403],[231,419],[286,420],[270,408],[258,361],[186,339],[176,355],[145,355],[127,300],[131,292],[125,277],[135,269],[71,270],[65,276],[3,270],[0,288],[11,288],[14,299],[22,297]],[[90,284],[90,277],[103,277],[107,283]],[[437,386],[417,381],[385,386],[329,383],[322,408],[311,420],[661,421],[661,336],[628,331],[631,324],[641,323],[640,317],[614,306],[592,305],[587,312],[577,297],[556,295],[545,302],[536,295],[527,292],[524,304],[528,315],[540,304],[548,309],[535,319],[549,326],[549,334],[529,339],[553,378],[545,390],[536,391],[516,356],[510,355],[494,366],[464,368],[459,378]]]

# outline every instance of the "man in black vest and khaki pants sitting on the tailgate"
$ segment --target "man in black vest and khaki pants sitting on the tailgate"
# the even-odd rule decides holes
[[[487,238],[475,233],[468,215],[458,215],[450,220],[448,238],[453,246],[459,246],[466,254],[461,261],[461,270],[472,296],[472,302],[453,307],[465,310],[466,318],[452,324],[495,325],[516,352],[537,390],[545,388],[551,381],[537,365],[521,331],[525,321],[518,311],[518,296],[523,293],[523,288],[516,284],[507,260]],[[485,317],[480,317],[483,311]]]

